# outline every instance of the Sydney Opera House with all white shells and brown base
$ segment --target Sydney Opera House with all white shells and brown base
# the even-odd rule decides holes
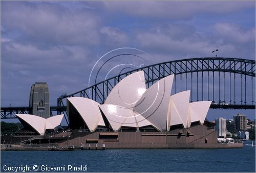
[[[170,75],[146,89],[144,71],[138,71],[122,79],[102,105],[89,98],[67,98],[69,144],[104,144],[109,149],[217,146],[215,123],[205,120],[211,102],[189,103],[189,90],[170,95],[173,80]],[[44,136],[58,128],[63,115],[17,117],[25,129]],[[66,146],[67,140],[58,145]]]

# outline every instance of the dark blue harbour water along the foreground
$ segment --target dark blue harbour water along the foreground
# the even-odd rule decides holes
[[[255,146],[243,149],[154,149],[104,151],[7,151],[4,166],[87,165],[88,172],[255,172]],[[10,172],[10,171],[8,171]],[[19,171],[21,172],[21,171]],[[26,171],[29,172],[29,171]],[[60,171],[51,171],[60,172]],[[76,171],[84,172],[84,171]]]

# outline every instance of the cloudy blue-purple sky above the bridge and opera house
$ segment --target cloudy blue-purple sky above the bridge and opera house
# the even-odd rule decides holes
[[[113,59],[98,82],[119,72],[106,76],[111,65],[213,57],[216,48],[218,57],[255,60],[255,1],[1,1],[1,107],[28,106],[35,82],[48,83],[56,106],[62,93],[90,86],[97,61],[121,47],[136,50],[107,59],[129,52],[146,62]],[[237,113],[255,118],[255,110],[210,110],[207,117]]]

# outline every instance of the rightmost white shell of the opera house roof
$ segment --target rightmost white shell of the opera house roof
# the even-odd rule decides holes
[[[203,125],[207,112],[210,108],[211,101],[201,101],[189,103],[188,109],[191,122],[200,121]]]

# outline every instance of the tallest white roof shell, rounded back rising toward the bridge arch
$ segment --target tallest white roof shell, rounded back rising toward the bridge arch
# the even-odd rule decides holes
[[[104,104],[118,105],[133,110],[145,90],[144,71],[134,72],[123,78],[111,90]]]

